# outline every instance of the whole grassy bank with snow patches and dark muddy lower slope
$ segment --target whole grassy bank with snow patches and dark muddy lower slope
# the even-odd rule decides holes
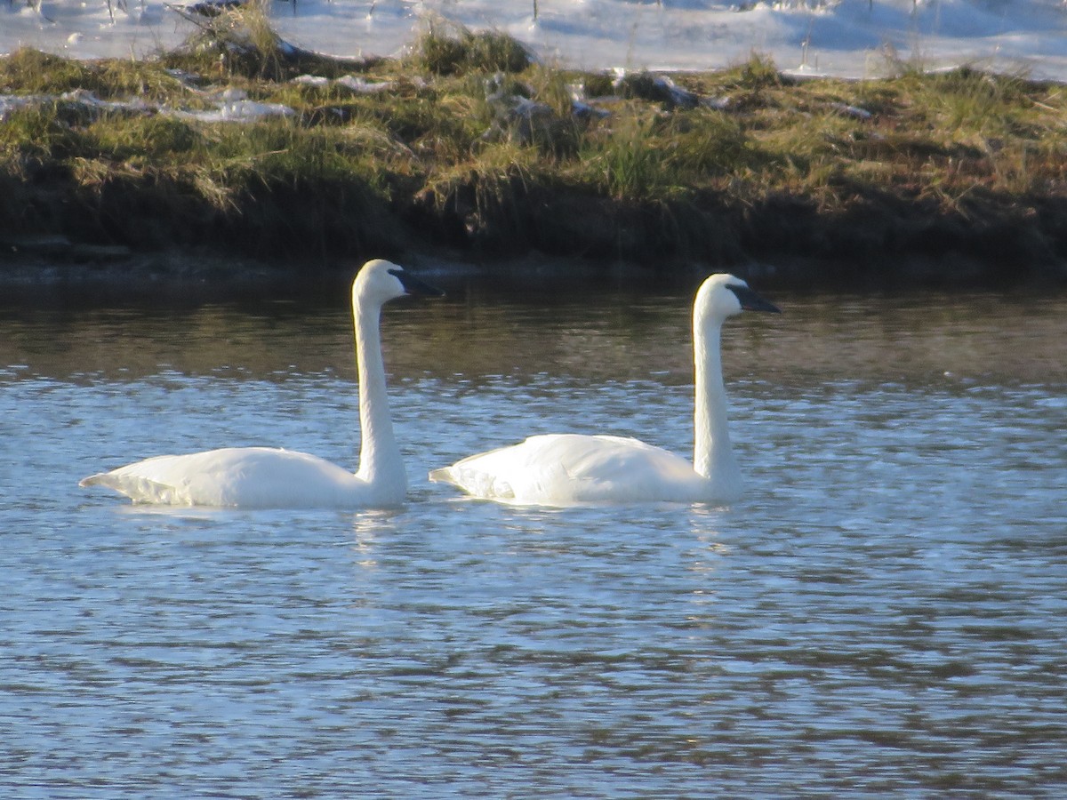
[[[539,251],[812,284],[1067,281],[1063,85],[907,64],[795,81],[759,57],[619,78],[444,25],[403,60],[344,62],[254,12],[203,25],[152,61],[0,60],[0,269],[52,243],[305,270]],[[221,118],[237,112],[266,115]]]

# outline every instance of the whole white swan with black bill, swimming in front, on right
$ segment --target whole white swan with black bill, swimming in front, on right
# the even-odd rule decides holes
[[[730,447],[719,339],[722,323],[742,310],[781,313],[733,275],[712,275],[697,291],[692,464],[636,438],[562,433],[471,455],[432,470],[430,480],[514,506],[736,500],[742,477]]]

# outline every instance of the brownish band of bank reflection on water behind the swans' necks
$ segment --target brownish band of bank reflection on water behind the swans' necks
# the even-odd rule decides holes
[[[434,278],[445,301],[386,310],[397,374],[442,378],[541,372],[592,379],[690,379],[692,287],[643,291],[528,287]],[[1067,299],[1030,294],[776,294],[781,318],[728,323],[728,374],[773,382],[1063,381]],[[57,378],[182,374],[284,378],[352,368],[346,289],[253,303],[133,307],[0,306],[0,364]],[[757,361],[758,359],[758,361]]]

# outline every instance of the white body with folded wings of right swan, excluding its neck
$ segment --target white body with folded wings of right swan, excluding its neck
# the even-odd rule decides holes
[[[684,459],[621,436],[551,434],[430,473],[475,497],[566,506],[701,499],[707,481]]]

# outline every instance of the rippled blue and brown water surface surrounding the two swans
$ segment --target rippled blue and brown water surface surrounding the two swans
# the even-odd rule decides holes
[[[426,471],[550,431],[689,454],[696,282],[432,277],[384,318],[393,511],[77,485],[354,468],[344,293],[0,304],[5,797],[1067,791],[1067,297],[765,292],[723,336],[745,498],[553,511]]]

